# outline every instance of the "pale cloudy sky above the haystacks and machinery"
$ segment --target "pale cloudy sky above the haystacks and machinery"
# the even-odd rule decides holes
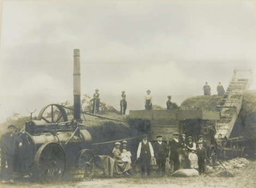
[[[4,2],[0,123],[17,112],[36,115],[46,104],[72,101],[73,51],[81,53],[81,92],[99,89],[102,102],[143,109],[167,95],[180,104],[216,94],[237,69],[254,71],[253,2]]]

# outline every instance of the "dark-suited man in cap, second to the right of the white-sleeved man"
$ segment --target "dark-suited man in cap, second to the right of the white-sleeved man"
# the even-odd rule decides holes
[[[173,160],[173,171],[178,171],[180,168],[179,151],[182,150],[181,141],[179,140],[180,134],[173,133],[173,140],[169,142],[170,145],[170,160]]]

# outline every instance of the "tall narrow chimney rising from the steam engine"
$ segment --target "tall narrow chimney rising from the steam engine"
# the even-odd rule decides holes
[[[80,49],[74,49],[74,120],[82,122],[81,119],[81,78],[80,78]]]

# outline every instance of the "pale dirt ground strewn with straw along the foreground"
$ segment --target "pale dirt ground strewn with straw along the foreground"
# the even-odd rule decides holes
[[[132,177],[114,176],[113,178],[103,178],[101,174],[95,174],[90,180],[61,181],[58,184],[39,184],[31,183],[28,179],[16,179],[14,184],[0,183],[0,187],[256,187],[256,161],[247,164],[242,168],[233,168],[228,170],[235,177],[218,177],[218,170],[212,174],[203,176],[175,178],[171,175],[166,177],[155,177],[153,172],[150,178],[141,178],[139,173]]]

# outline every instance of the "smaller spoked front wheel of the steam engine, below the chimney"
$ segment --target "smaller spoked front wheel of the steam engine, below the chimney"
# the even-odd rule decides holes
[[[76,168],[84,169],[84,178],[92,178],[95,171],[95,157],[89,149],[81,150],[75,161]]]

